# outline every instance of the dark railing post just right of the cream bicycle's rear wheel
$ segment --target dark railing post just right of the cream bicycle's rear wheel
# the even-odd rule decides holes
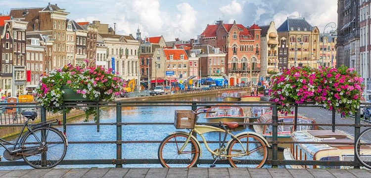
[[[273,113],[272,113],[272,167],[277,168],[277,161],[278,161],[278,110],[277,104],[273,104]]]

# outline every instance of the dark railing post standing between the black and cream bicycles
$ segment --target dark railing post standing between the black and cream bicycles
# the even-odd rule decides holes
[[[116,103],[116,159],[122,159],[122,116],[121,116],[121,103]],[[116,164],[116,168],[122,168],[122,164]]]

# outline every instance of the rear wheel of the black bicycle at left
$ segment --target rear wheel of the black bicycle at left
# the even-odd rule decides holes
[[[27,132],[21,142],[24,161],[37,169],[58,165],[66,155],[66,137],[55,128],[39,127],[33,132]]]

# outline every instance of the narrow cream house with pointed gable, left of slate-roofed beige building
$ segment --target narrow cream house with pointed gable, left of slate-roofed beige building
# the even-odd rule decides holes
[[[270,77],[272,73],[278,70],[278,33],[276,29],[275,22],[271,22],[269,25],[260,26],[261,38],[261,54],[260,54],[260,64],[261,64],[261,75],[264,77]],[[282,59],[281,59],[282,62]]]

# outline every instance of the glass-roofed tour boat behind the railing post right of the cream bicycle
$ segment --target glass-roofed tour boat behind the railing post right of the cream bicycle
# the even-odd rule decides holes
[[[278,113],[278,123],[284,124],[293,124],[295,121],[294,115],[284,115]],[[272,112],[268,112],[263,114],[256,123],[265,123],[271,124],[272,123]],[[316,121],[313,119],[309,119],[303,116],[298,116],[297,118],[298,124],[316,124]],[[279,125],[278,126],[278,141],[289,141],[291,133],[293,131],[293,127],[291,125]],[[266,137],[267,140],[272,141],[272,125],[254,125],[254,130],[258,134],[262,134]],[[297,126],[296,131],[306,131],[306,130],[317,130],[317,126]],[[279,143],[278,148],[283,150],[289,147],[289,143]]]

